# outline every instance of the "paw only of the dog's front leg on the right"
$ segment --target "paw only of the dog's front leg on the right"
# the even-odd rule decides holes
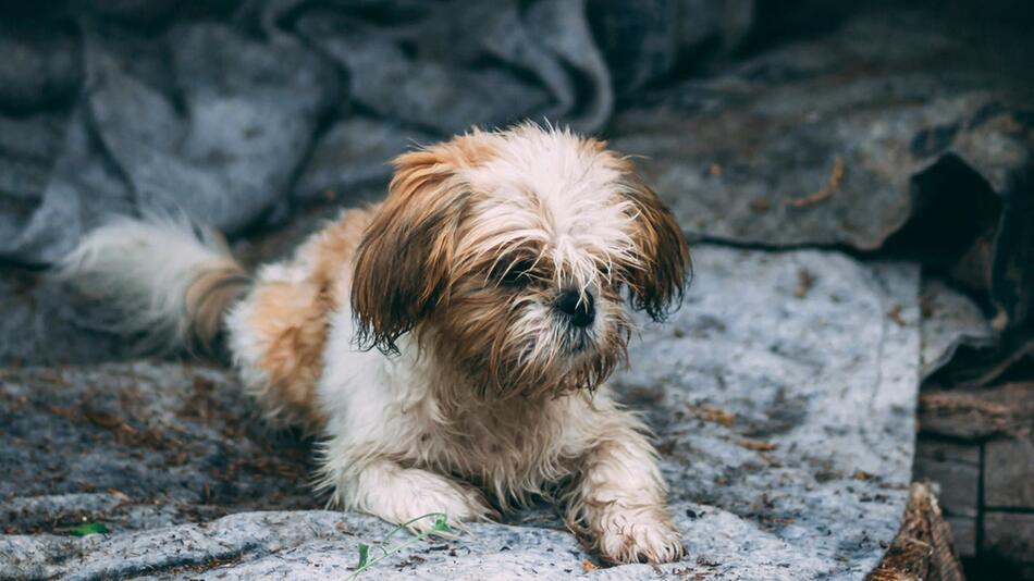
[[[682,540],[661,508],[614,510],[601,522],[595,545],[615,564],[672,563],[682,558]]]

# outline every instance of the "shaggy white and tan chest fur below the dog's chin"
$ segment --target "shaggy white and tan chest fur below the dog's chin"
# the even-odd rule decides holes
[[[340,313],[338,324],[349,326],[350,318]],[[340,334],[348,332],[342,329]],[[332,338],[330,353],[334,343]],[[346,420],[350,425],[332,430],[352,434],[357,457],[386,455],[403,466],[453,473],[492,492],[501,503],[542,492],[577,469],[577,434],[586,432],[578,419],[588,416],[579,412],[589,406],[586,394],[480,399],[458,384],[461,379],[436,369],[427,354],[416,355],[406,344],[399,347],[402,355],[393,359],[350,350],[343,359],[364,361],[353,361],[354,367],[342,359],[328,361],[321,396],[328,404],[347,403],[349,409],[343,411],[353,418]],[[350,379],[341,381],[338,374]],[[373,416],[377,422],[369,421]]]

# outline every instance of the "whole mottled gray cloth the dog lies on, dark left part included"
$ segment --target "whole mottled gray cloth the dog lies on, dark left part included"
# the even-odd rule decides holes
[[[918,267],[714,246],[696,259],[686,305],[667,325],[643,326],[632,369],[615,381],[657,432],[686,536],[687,559],[660,569],[861,579],[908,496]],[[341,579],[360,540],[389,530],[313,510],[307,443],[263,434],[219,370],[9,370],[0,406],[0,577]],[[294,510],[243,512],[271,508]],[[69,536],[84,520],[111,534]],[[644,565],[587,571],[594,558],[549,508],[510,521],[421,543],[369,578],[657,576]]]

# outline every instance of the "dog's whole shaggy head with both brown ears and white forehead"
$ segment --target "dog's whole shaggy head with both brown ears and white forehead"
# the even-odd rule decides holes
[[[521,125],[399,157],[356,256],[360,343],[392,351],[413,331],[482,396],[605,380],[627,302],[662,319],[690,262],[672,214],[604,145]]]

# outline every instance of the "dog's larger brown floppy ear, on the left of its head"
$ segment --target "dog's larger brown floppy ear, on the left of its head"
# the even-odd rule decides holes
[[[387,198],[356,250],[352,309],[360,347],[397,353],[395,339],[447,295],[468,198],[457,176],[464,153],[453,141],[395,159]]]

